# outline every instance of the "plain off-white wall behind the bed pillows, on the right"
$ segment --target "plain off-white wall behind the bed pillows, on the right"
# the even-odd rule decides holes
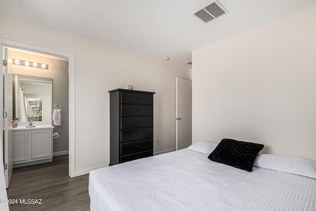
[[[193,51],[193,142],[316,161],[316,7]]]

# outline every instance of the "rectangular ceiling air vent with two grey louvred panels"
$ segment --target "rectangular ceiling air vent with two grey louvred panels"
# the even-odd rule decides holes
[[[208,23],[211,20],[215,20],[227,13],[229,13],[228,10],[225,9],[225,7],[220,2],[215,0],[193,14],[204,23]]]

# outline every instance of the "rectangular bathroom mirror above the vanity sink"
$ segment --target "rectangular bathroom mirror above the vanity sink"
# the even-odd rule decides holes
[[[50,122],[52,82],[50,78],[14,74],[13,118],[20,122]]]

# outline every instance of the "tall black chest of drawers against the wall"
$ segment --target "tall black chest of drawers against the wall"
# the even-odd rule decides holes
[[[155,92],[110,92],[110,166],[153,156]]]

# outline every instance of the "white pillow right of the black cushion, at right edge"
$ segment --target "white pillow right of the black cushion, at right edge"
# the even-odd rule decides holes
[[[316,163],[303,158],[275,154],[259,154],[253,166],[285,173],[294,173],[316,179]]]

